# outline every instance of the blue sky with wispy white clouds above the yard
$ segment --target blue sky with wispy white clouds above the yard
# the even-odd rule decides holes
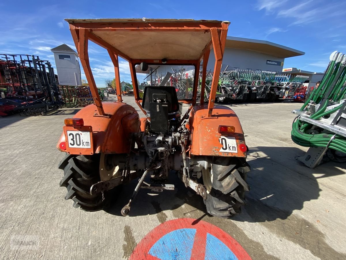
[[[331,52],[346,52],[346,1],[6,1],[0,3],[0,53],[34,54],[48,59],[62,43],[74,47],[64,18],[175,18],[231,22],[228,35],[266,40],[305,52],[285,59],[285,68],[323,72]],[[108,53],[90,43],[91,68],[98,87],[114,70]],[[120,77],[130,81],[128,63]],[[84,74],[82,78],[85,79]]]

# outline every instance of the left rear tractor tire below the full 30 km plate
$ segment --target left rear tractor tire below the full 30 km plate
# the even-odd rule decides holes
[[[60,162],[58,168],[64,170],[60,186],[66,187],[65,199],[72,199],[73,207],[85,211],[97,211],[105,206],[102,193],[90,194],[91,186],[100,181],[100,157],[102,157],[100,154],[66,154]]]

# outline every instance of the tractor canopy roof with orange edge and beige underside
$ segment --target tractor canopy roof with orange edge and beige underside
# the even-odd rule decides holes
[[[89,40],[131,60],[199,60],[212,46],[210,30],[222,21],[192,19],[65,19],[71,29],[85,28]],[[224,22],[227,23],[228,22]]]

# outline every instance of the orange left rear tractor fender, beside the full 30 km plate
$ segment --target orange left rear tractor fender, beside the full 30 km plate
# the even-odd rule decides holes
[[[129,135],[138,132],[140,127],[137,111],[132,106],[120,102],[102,102],[102,105],[104,112],[110,117],[100,116],[95,105],[82,108],[73,117],[82,118],[84,126],[92,127],[93,153],[128,153],[130,151]],[[64,132],[56,148],[69,152],[68,144],[66,144],[66,150],[60,148],[61,142],[65,142]],[[79,154],[91,154],[90,149],[77,149]]]

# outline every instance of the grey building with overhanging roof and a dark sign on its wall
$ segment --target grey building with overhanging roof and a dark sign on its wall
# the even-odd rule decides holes
[[[280,73],[285,58],[304,54],[302,51],[268,41],[227,36],[222,63],[228,65],[228,69],[270,70]],[[212,71],[214,63],[215,56],[211,51],[207,70]]]

